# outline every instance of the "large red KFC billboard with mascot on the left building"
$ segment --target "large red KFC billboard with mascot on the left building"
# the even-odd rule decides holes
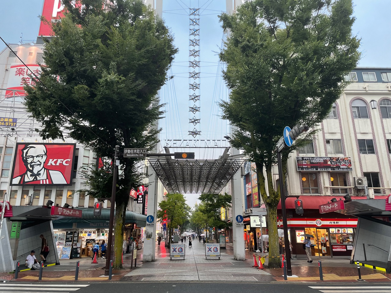
[[[11,185],[72,185],[76,144],[16,143]]]

